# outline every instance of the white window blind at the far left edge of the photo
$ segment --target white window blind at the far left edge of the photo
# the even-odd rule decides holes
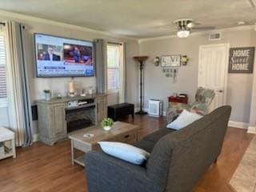
[[[0,98],[7,98],[6,49],[4,36],[0,34]]]

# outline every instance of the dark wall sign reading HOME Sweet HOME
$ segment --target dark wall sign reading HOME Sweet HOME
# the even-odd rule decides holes
[[[229,74],[252,74],[255,47],[230,48]]]

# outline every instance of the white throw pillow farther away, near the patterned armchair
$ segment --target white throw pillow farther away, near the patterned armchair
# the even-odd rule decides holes
[[[166,127],[174,130],[180,130],[192,122],[202,118],[202,115],[191,113],[187,110],[182,110],[182,113],[173,122],[170,122]]]

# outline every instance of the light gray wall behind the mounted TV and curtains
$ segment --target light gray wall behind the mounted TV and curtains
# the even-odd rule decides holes
[[[123,38],[114,36],[111,34],[106,34],[104,32],[87,30],[82,27],[70,26],[59,22],[51,22],[41,18],[28,17],[21,14],[4,14],[0,13],[0,18],[4,20],[13,20],[21,22],[26,26],[26,61],[29,70],[30,79],[30,98],[33,103],[38,99],[44,98],[42,90],[49,89],[54,91],[54,93],[60,92],[63,95],[67,92],[67,82],[70,78],[36,78],[34,69],[34,33],[42,34],[53,34],[58,36],[63,36],[66,38],[78,38],[92,41],[95,38],[104,38],[111,42],[126,42],[126,65],[127,65],[127,77],[134,76],[137,72],[133,56],[138,54],[138,41],[131,38]],[[79,85],[94,86],[95,78],[74,78]],[[127,84],[130,85],[129,78]],[[133,89],[134,85],[129,86],[129,89]],[[127,99],[129,102],[134,102],[137,98],[134,98],[134,94],[128,94]],[[0,110],[0,117],[7,113],[5,109]],[[5,122],[6,123],[6,122]],[[7,124],[7,123],[6,123]],[[34,134],[38,133],[37,124],[34,123]]]

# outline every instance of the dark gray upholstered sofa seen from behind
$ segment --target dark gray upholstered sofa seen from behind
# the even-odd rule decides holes
[[[192,191],[221,153],[230,111],[222,106],[182,130],[149,134],[135,143],[150,152],[144,166],[91,151],[85,158],[89,192]]]

